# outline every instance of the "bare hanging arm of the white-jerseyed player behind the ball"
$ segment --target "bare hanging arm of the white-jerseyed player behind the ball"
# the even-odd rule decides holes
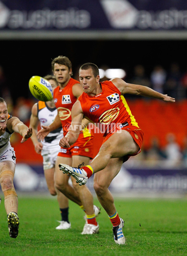
[[[41,154],[43,145],[40,141],[38,141],[38,138],[36,136],[38,131],[38,124],[39,124],[39,119],[37,115],[37,103],[36,103],[32,106],[31,117],[30,117],[30,127],[32,127],[32,131],[33,131],[31,140],[35,147],[36,153]]]

